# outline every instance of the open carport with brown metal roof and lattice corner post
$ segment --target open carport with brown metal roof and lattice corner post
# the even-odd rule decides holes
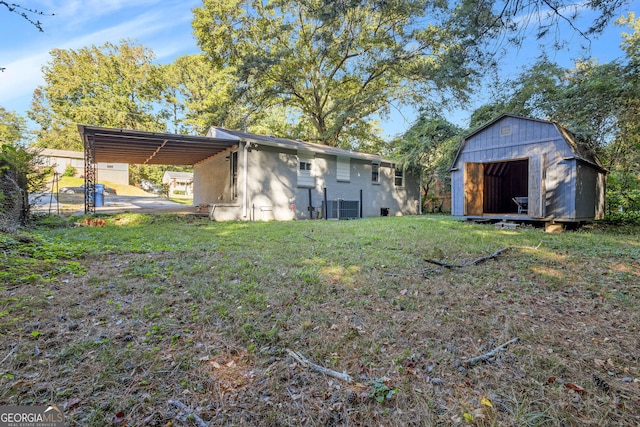
[[[84,146],[85,214],[95,213],[98,162],[193,166],[230,150],[237,140],[78,125]]]

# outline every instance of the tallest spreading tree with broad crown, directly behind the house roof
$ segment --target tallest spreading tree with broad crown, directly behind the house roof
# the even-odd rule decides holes
[[[435,91],[464,98],[484,57],[482,4],[421,0],[205,0],[198,43],[236,70],[235,95],[252,108],[293,108],[306,139],[348,145],[371,134],[392,103],[424,105]]]

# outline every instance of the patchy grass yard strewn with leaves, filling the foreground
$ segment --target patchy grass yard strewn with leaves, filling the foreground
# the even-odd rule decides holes
[[[638,227],[104,219],[0,235],[0,404],[70,426],[640,424]]]

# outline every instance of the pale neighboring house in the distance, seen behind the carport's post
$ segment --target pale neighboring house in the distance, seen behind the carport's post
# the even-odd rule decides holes
[[[82,151],[56,150],[44,148],[40,152],[43,166],[51,166],[59,176],[65,173],[67,168],[75,169],[76,176],[84,176],[84,153]],[[112,184],[129,184],[128,163],[98,163],[97,175],[100,181],[109,181]]]

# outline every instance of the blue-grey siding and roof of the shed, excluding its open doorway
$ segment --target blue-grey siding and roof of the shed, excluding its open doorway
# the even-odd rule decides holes
[[[505,127],[510,132],[504,132]],[[469,199],[466,165],[524,159],[529,162],[528,216],[569,221],[602,217],[604,174],[576,161],[571,146],[553,123],[514,116],[499,119],[464,142],[452,167],[452,214],[475,216],[465,204]]]

